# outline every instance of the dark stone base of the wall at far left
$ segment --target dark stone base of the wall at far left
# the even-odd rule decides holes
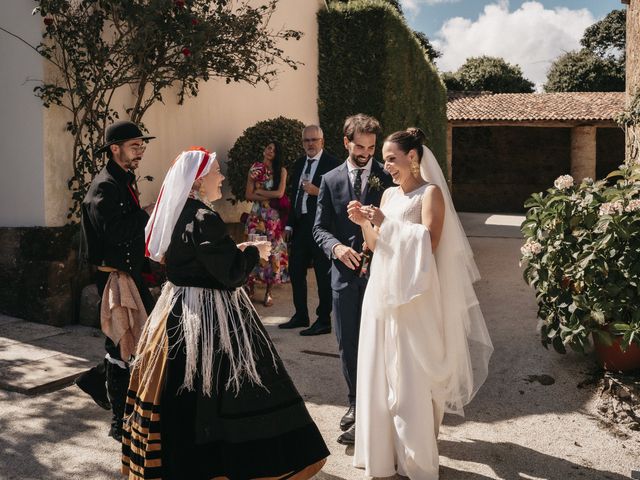
[[[78,262],[78,225],[0,228],[0,312],[62,326],[75,323],[89,273]]]

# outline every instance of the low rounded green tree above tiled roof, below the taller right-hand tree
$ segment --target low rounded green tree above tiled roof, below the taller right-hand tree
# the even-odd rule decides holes
[[[553,62],[544,85],[546,92],[621,92],[624,88],[624,65],[586,49]]]

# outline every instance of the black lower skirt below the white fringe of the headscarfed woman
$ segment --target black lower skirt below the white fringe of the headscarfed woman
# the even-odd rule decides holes
[[[177,302],[167,319],[169,358],[160,406],[163,478],[277,477],[326,458],[327,446],[259,321],[266,340],[254,337],[259,343],[254,351],[263,386],[245,381],[238,392],[225,389],[229,360],[217,352],[211,396],[202,393],[200,372],[194,391],[180,389],[186,360],[183,346],[176,345],[181,309]],[[252,311],[237,315],[255,318]]]

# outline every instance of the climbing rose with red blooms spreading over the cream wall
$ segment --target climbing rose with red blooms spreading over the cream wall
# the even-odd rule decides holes
[[[126,115],[141,123],[145,112],[177,89],[178,100],[198,94],[201,81],[269,84],[278,64],[296,68],[281,41],[293,30],[273,31],[269,19],[278,0],[252,7],[228,0],[38,0],[43,41],[29,45],[57,67],[54,80],[35,88],[45,107],[70,113],[72,207],[79,206],[103,161],[95,155],[104,130],[121,112],[112,102],[122,87],[132,92]],[[170,90],[171,89],[171,90]]]

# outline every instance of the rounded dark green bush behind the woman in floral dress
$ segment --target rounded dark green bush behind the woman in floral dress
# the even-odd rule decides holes
[[[234,205],[244,201],[247,186],[247,174],[251,164],[262,160],[262,151],[269,141],[277,141],[282,146],[282,166],[287,169],[289,179],[291,166],[302,150],[302,129],[304,123],[285,117],[263,120],[253,127],[247,128],[238,137],[236,143],[229,150],[227,163],[227,181],[231,186],[231,193],[235,198],[229,199]]]

